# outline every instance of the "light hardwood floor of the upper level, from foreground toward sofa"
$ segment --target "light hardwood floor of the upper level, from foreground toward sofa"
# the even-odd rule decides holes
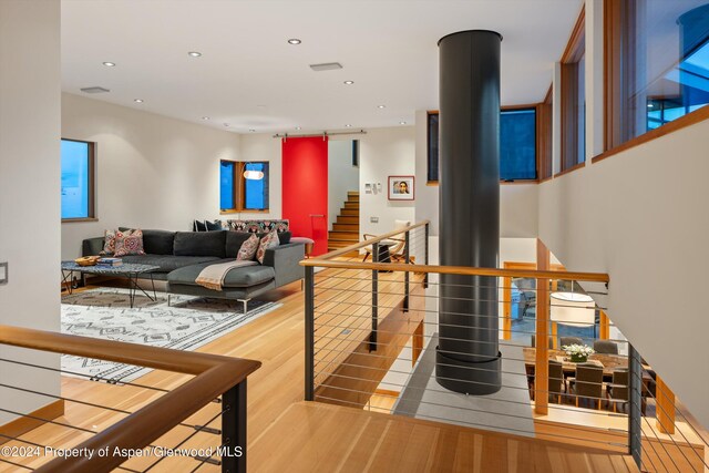
[[[325,280],[327,275],[328,273],[322,271],[317,277]],[[263,362],[261,369],[248,379],[247,451],[249,469],[253,471],[636,471],[628,466],[621,455],[596,455],[574,450],[573,446],[568,452],[548,445],[535,450],[525,443],[528,439],[502,439],[499,434],[460,426],[394,418],[351,408],[302,403],[305,323],[300,282],[275,290],[263,298],[279,300],[282,306],[198,349]],[[135,382],[169,390],[186,379],[183,374],[153,371]],[[132,412],[158,395],[161,393],[157,391],[132,385],[63,377],[65,413],[55,422],[69,426],[48,423],[24,434],[22,440],[54,448],[70,448],[91,435],[90,432],[72,426],[99,431],[125,415],[72,400]],[[218,435],[195,433],[189,425],[204,424],[218,417],[219,412],[219,404],[207,405],[186,420],[186,425],[173,429],[154,444],[195,449],[217,446],[220,443]],[[218,429],[219,424],[217,419],[208,425]],[[192,436],[185,441],[189,435]],[[6,445],[28,446],[18,441]],[[11,460],[29,467],[38,467],[51,459],[40,456]],[[143,471],[156,460],[154,456],[134,457],[123,466]],[[547,469],[530,470],[526,467],[530,464],[545,465]],[[163,459],[151,471],[189,472],[198,465],[194,459],[172,456]],[[500,470],[489,469],[493,466],[499,466]],[[198,471],[219,470],[218,466],[204,464]],[[16,471],[20,469],[0,463],[0,472]]]

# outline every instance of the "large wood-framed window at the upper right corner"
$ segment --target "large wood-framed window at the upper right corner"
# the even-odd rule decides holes
[[[606,0],[606,150],[709,103],[706,0]]]

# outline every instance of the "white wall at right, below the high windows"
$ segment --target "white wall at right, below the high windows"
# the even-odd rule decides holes
[[[540,186],[540,237],[568,270],[610,275],[608,315],[709,424],[709,121]]]

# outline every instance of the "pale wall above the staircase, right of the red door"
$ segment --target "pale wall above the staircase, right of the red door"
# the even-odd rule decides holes
[[[352,165],[352,140],[328,142],[328,228],[340,214],[349,191],[359,189],[359,166]]]

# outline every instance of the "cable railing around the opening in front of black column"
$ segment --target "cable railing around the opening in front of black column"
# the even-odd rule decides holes
[[[709,435],[608,318],[607,275],[429,266],[428,240],[420,223],[301,263],[307,400],[624,452],[643,471],[709,467]],[[371,263],[343,256],[366,245]],[[497,366],[459,362],[491,352]]]

